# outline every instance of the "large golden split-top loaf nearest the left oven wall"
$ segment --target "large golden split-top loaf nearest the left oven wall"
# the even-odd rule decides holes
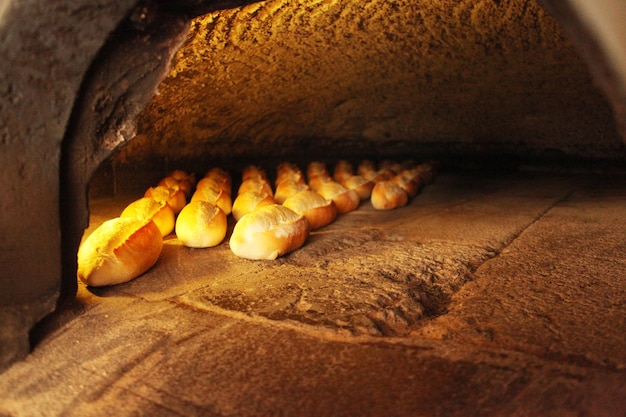
[[[163,237],[153,221],[107,220],[78,249],[78,278],[93,287],[130,281],[156,263],[162,248]]]

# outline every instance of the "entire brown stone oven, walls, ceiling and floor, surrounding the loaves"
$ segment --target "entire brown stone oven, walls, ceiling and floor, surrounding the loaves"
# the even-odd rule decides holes
[[[18,3],[0,415],[626,415],[619,1]],[[171,170],[340,159],[441,169],[276,261],[75,278]]]

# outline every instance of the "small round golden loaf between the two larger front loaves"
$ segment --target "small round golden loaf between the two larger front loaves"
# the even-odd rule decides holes
[[[190,248],[210,248],[226,237],[226,214],[208,201],[192,201],[176,219],[176,236]]]

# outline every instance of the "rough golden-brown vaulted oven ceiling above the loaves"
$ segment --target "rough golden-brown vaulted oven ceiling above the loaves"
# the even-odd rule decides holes
[[[269,0],[192,24],[117,157],[624,155],[558,23],[529,0]]]

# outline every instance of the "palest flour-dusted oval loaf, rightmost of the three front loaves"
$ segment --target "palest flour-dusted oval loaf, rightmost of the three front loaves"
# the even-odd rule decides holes
[[[246,214],[235,224],[230,249],[241,258],[274,260],[300,248],[308,234],[306,217],[274,204]]]

